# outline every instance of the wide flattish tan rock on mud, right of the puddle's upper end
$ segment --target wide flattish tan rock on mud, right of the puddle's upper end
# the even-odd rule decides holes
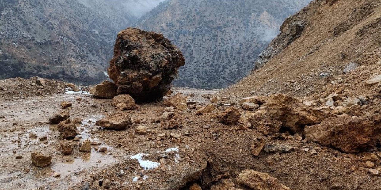
[[[96,121],[95,125],[106,129],[124,130],[131,127],[132,120],[127,112],[116,112]]]

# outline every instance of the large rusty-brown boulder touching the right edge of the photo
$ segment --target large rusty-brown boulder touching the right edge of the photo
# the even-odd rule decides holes
[[[347,153],[374,147],[381,135],[381,125],[370,119],[340,117],[304,128],[310,141],[332,146]]]

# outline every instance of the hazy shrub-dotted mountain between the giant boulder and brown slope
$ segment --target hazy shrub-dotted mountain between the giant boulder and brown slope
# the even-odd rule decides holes
[[[168,0],[135,23],[163,33],[184,53],[175,86],[213,89],[254,67],[283,20],[310,0]]]

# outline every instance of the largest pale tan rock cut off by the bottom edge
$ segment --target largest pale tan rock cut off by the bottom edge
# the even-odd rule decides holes
[[[235,179],[239,185],[244,185],[253,190],[290,190],[279,179],[252,169],[243,170]]]

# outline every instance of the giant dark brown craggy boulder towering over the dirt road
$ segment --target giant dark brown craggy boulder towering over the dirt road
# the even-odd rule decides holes
[[[108,71],[118,94],[150,101],[166,95],[184,64],[181,51],[162,34],[127,28],[118,33]]]

